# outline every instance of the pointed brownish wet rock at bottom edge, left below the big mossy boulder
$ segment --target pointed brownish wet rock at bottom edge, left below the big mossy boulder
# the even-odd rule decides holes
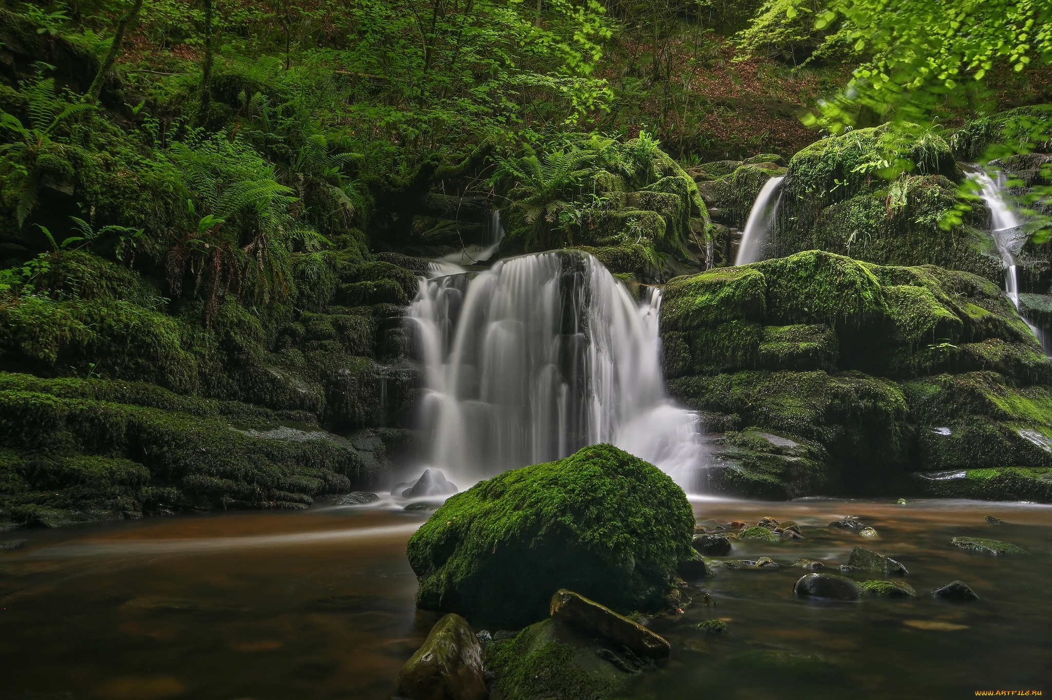
[[[406,700],[483,700],[483,651],[471,626],[450,613],[439,620],[394,681],[394,696]]]

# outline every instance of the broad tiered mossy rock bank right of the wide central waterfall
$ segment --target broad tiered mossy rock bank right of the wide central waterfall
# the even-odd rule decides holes
[[[677,277],[673,395],[707,414],[717,492],[878,492],[906,474],[1052,466],[1052,368],[989,281],[808,251]]]

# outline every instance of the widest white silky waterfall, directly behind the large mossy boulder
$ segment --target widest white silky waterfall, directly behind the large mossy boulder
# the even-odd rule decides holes
[[[407,323],[424,366],[426,466],[463,488],[612,442],[696,491],[701,421],[665,393],[660,305],[660,290],[638,304],[580,251],[421,279]]]

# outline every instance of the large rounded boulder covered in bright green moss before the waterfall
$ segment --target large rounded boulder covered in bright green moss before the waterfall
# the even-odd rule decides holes
[[[658,468],[609,445],[451,496],[410,538],[417,605],[518,629],[570,589],[615,610],[660,604],[694,517]]]

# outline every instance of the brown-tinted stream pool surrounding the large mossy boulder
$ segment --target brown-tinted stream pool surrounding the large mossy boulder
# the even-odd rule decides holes
[[[1052,693],[1052,507],[699,500],[694,511],[709,524],[792,519],[805,539],[736,544],[727,558],[767,555],[783,565],[716,568],[702,585],[714,606],[653,620],[672,656],[635,677],[626,697]],[[824,527],[849,514],[879,538]],[[989,526],[986,515],[1006,523]],[[437,619],[413,610],[404,556],[425,517],[337,508],[0,535],[27,542],[0,552],[0,698],[384,698]],[[1033,554],[974,556],[951,549],[954,536]],[[917,597],[794,598],[806,573],[789,565],[795,558],[844,563],[856,544],[904,563]],[[928,595],[958,578],[982,600]],[[694,627],[710,618],[726,620],[727,632]]]

